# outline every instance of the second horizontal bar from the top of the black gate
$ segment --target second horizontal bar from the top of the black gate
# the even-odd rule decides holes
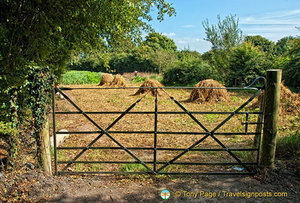
[[[56,114],[82,114],[82,112],[55,112]],[[124,112],[85,112],[85,114],[123,114]],[[232,114],[233,112],[127,112],[126,114]],[[263,112],[237,112],[236,114],[261,115]]]

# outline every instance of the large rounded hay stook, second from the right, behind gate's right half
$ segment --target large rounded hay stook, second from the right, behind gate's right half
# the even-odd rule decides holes
[[[225,88],[224,85],[217,82],[216,80],[208,79],[198,82],[194,87],[208,87],[193,89],[190,94],[189,102],[193,103],[220,103],[229,100],[230,94],[227,89],[215,89],[215,88]]]

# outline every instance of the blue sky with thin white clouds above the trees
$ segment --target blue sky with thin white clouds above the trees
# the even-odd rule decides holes
[[[173,3],[176,16],[150,22],[158,33],[174,40],[179,49],[190,48],[203,53],[210,50],[205,41],[202,21],[217,24],[217,15],[225,19],[237,15],[244,35],[261,35],[273,42],[300,35],[300,0],[166,0]]]

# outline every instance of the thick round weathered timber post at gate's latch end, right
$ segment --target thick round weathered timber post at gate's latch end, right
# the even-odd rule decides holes
[[[279,114],[279,100],[281,92],[281,70],[267,70],[267,84],[265,89],[263,144],[260,166],[273,169],[275,167],[275,150],[277,122]]]

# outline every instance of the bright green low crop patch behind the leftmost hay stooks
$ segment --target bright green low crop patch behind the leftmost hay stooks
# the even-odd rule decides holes
[[[68,71],[62,76],[63,85],[99,84],[101,73],[90,71]]]

